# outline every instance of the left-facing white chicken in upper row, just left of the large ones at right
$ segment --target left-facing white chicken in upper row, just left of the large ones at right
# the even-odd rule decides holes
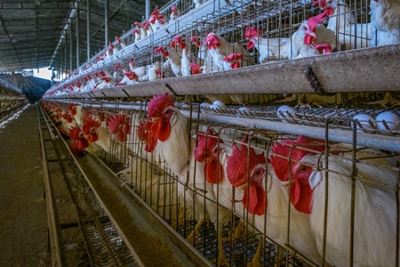
[[[253,27],[248,27],[244,36],[249,39],[247,50],[257,48],[260,64],[281,60],[282,46],[289,40],[289,38],[262,38],[257,28]]]

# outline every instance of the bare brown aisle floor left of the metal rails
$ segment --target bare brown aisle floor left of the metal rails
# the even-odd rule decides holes
[[[0,265],[48,266],[37,106],[0,126]]]

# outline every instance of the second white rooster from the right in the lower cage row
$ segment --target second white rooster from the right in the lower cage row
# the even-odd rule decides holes
[[[242,142],[240,148],[234,144],[231,156],[227,160],[226,172],[228,181],[237,189],[236,199],[242,198],[241,204],[249,214],[254,214],[251,223],[280,246],[286,247],[287,244],[295,247],[314,263],[321,263],[322,257],[316,249],[308,214],[300,213],[292,207],[288,214],[290,202],[282,182],[277,179],[264,154],[257,154],[256,150],[247,147],[246,136]],[[264,178],[267,179],[266,182],[263,182]],[[268,190],[268,194],[265,190]],[[237,210],[243,211],[243,208],[236,208]],[[240,216],[244,218],[244,214],[243,211]],[[259,257],[260,254],[256,254],[252,264],[260,263]]]

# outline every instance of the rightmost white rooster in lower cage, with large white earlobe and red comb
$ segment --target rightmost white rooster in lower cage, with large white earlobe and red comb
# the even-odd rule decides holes
[[[291,187],[293,206],[302,213],[310,214],[310,224],[320,253],[325,249],[325,259],[334,266],[349,264],[350,251],[350,214],[352,198],[352,175],[356,175],[354,210],[354,255],[356,266],[394,266],[396,260],[396,194],[387,187],[373,186],[379,182],[396,186],[398,170],[385,166],[356,164],[356,173],[352,172],[353,163],[349,160],[316,154],[324,146],[310,145],[304,136],[297,141],[284,140],[285,144],[313,147],[316,152],[275,144],[276,155],[291,158],[289,165],[284,158],[272,157],[275,170],[280,171],[281,180]],[[291,153],[292,152],[292,153]],[[325,160],[328,160],[328,166]],[[278,161],[275,162],[274,161]],[[294,162],[296,160],[296,162]],[[299,161],[299,162],[297,162]],[[317,165],[317,166],[316,166]],[[326,173],[329,180],[326,181]],[[289,181],[289,172],[292,179]],[[329,188],[327,195],[326,183]],[[312,197],[310,197],[312,196]],[[325,210],[325,199],[328,209]],[[327,214],[325,214],[327,212]],[[324,217],[327,223],[324,239]],[[390,253],[392,252],[392,253]]]

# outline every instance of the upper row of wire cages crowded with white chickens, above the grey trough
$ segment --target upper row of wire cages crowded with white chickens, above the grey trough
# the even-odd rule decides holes
[[[164,18],[171,17],[171,6],[181,14],[173,22],[148,26],[148,33],[138,22],[47,94],[90,92],[319,54],[316,49],[301,54],[305,39],[299,33],[307,30],[316,38],[320,34],[320,44],[325,38],[321,28],[327,29],[332,52],[399,42],[398,32],[392,38],[373,27],[368,1],[208,1],[197,7],[203,6],[202,12],[191,10],[196,4],[174,1],[161,9]],[[316,27],[315,21],[305,25],[310,18],[323,26]]]

